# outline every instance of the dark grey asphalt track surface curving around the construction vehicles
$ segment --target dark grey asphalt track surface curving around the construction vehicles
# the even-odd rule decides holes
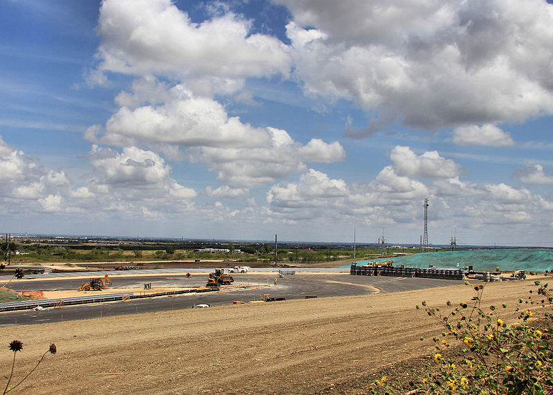
[[[272,276],[268,275],[272,274]],[[349,274],[321,274],[321,275],[291,275],[283,278],[274,277],[274,273],[268,274],[234,274],[234,286],[243,285],[233,291],[191,293],[177,297],[151,297],[130,302],[104,302],[98,304],[81,304],[66,306],[64,309],[45,309],[42,311],[10,311],[0,313],[0,326],[9,327],[21,324],[39,324],[43,322],[60,322],[67,320],[82,320],[86,318],[108,317],[113,315],[147,313],[153,311],[170,311],[177,309],[190,309],[194,304],[210,304],[218,306],[232,304],[239,300],[248,302],[259,300],[261,294],[268,293],[270,297],[285,297],[285,299],[304,299],[306,296],[332,297],[367,295],[373,293],[371,288],[378,288],[381,293],[411,291],[435,286],[448,286],[462,284],[462,281],[449,279],[424,279],[411,277],[370,277],[355,276]],[[184,275],[138,275],[136,277],[111,277],[113,286],[117,288],[137,287],[140,291],[145,283],[151,283],[152,288],[158,286],[168,287],[198,287],[205,285],[206,275],[192,275],[187,278]],[[277,286],[274,279],[277,278]],[[59,280],[35,280],[25,279],[11,282],[10,288],[15,291],[52,291],[78,288],[84,279],[72,279],[67,277]],[[267,286],[270,284],[270,286]],[[257,286],[259,285],[259,288]],[[279,302],[271,302],[279,303]]]

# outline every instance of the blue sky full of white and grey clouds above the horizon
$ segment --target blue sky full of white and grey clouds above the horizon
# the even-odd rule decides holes
[[[1,232],[553,246],[545,0],[5,0]]]

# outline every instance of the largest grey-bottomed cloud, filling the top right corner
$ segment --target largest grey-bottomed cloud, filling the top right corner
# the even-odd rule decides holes
[[[292,12],[304,92],[354,100],[384,121],[374,125],[439,129],[553,113],[545,1],[278,2]]]

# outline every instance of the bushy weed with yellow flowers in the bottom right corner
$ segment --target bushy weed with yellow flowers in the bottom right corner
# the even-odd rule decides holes
[[[400,380],[386,376],[375,381],[371,392],[553,394],[553,297],[547,284],[536,281],[534,285],[537,289],[529,291],[527,300],[518,300],[515,309],[518,319],[514,324],[500,318],[500,311],[507,312],[507,304],[500,308],[482,306],[484,285],[474,286],[470,305],[461,302],[447,315],[422,302],[428,315],[444,328],[442,336],[433,338],[437,351],[433,356],[435,366],[427,365],[424,378],[409,392]],[[451,306],[451,302],[447,305]],[[460,353],[445,357],[448,347],[455,345],[460,346]]]

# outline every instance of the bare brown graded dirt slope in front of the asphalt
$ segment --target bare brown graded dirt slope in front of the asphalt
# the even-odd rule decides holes
[[[488,283],[482,305],[507,303],[496,313],[511,320],[539,278]],[[20,394],[366,394],[384,374],[412,379],[433,363],[430,339],[442,328],[415,304],[449,311],[448,300],[456,306],[473,295],[472,286],[454,285],[3,327],[0,385],[17,339],[24,349],[15,383],[50,343],[58,350]]]

